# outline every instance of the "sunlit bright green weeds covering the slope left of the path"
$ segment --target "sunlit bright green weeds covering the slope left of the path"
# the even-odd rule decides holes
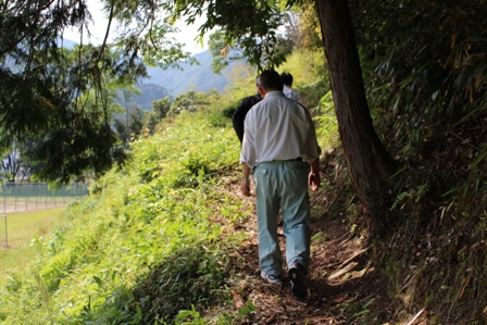
[[[134,142],[126,165],[68,208],[64,228],[42,242],[48,253],[2,284],[2,324],[154,322],[221,295],[227,262],[212,216],[225,199],[220,173],[237,166],[237,138],[204,112],[162,129]],[[166,295],[159,310],[145,304],[154,276]]]

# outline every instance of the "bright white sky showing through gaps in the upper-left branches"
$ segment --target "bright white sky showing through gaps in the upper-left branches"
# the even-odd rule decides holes
[[[102,5],[99,0],[88,0],[88,8],[91,12],[95,26],[89,25],[89,29],[91,34],[93,34],[93,42],[102,42],[104,33],[107,30],[108,21],[104,17],[102,12]],[[184,22],[178,22],[176,27],[180,30],[179,33],[174,35],[179,42],[186,43],[184,50],[191,52],[191,54],[200,53],[208,49],[208,35],[205,36],[204,47],[201,47],[200,43],[195,41],[195,37],[198,35],[198,27],[200,26],[199,22],[201,20],[197,20],[192,25],[186,25]],[[113,29],[112,29],[113,30]],[[112,32],[113,33],[113,32]],[[79,33],[77,30],[65,30],[64,38],[73,41],[77,41],[79,39]]]

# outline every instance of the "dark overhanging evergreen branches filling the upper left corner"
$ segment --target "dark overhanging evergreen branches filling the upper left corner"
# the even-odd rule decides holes
[[[86,37],[91,15],[85,1],[1,1],[1,148],[35,139],[25,157],[53,184],[105,171],[116,141],[109,80],[135,83],[146,76],[146,64],[165,67],[189,57],[166,37],[174,28],[160,4],[107,2],[109,28],[93,45]],[[118,35],[108,43],[115,21]],[[73,50],[63,48],[67,28],[80,33]]]

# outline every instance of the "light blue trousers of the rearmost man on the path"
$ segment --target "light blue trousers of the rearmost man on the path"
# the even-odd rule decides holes
[[[259,261],[261,271],[278,276],[283,255],[277,237],[277,216],[283,213],[286,236],[286,263],[310,265],[310,166],[302,161],[260,163],[253,172],[259,227]]]

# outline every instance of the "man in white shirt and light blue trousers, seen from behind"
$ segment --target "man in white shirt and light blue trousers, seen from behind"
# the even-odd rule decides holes
[[[264,71],[257,79],[262,101],[248,112],[240,152],[241,192],[250,196],[253,171],[261,276],[282,283],[283,257],[277,215],[283,214],[286,263],[296,297],[308,293],[303,276],[310,265],[310,197],[320,187],[320,153],[308,110],[283,93],[279,74]],[[310,171],[311,166],[311,171]]]

